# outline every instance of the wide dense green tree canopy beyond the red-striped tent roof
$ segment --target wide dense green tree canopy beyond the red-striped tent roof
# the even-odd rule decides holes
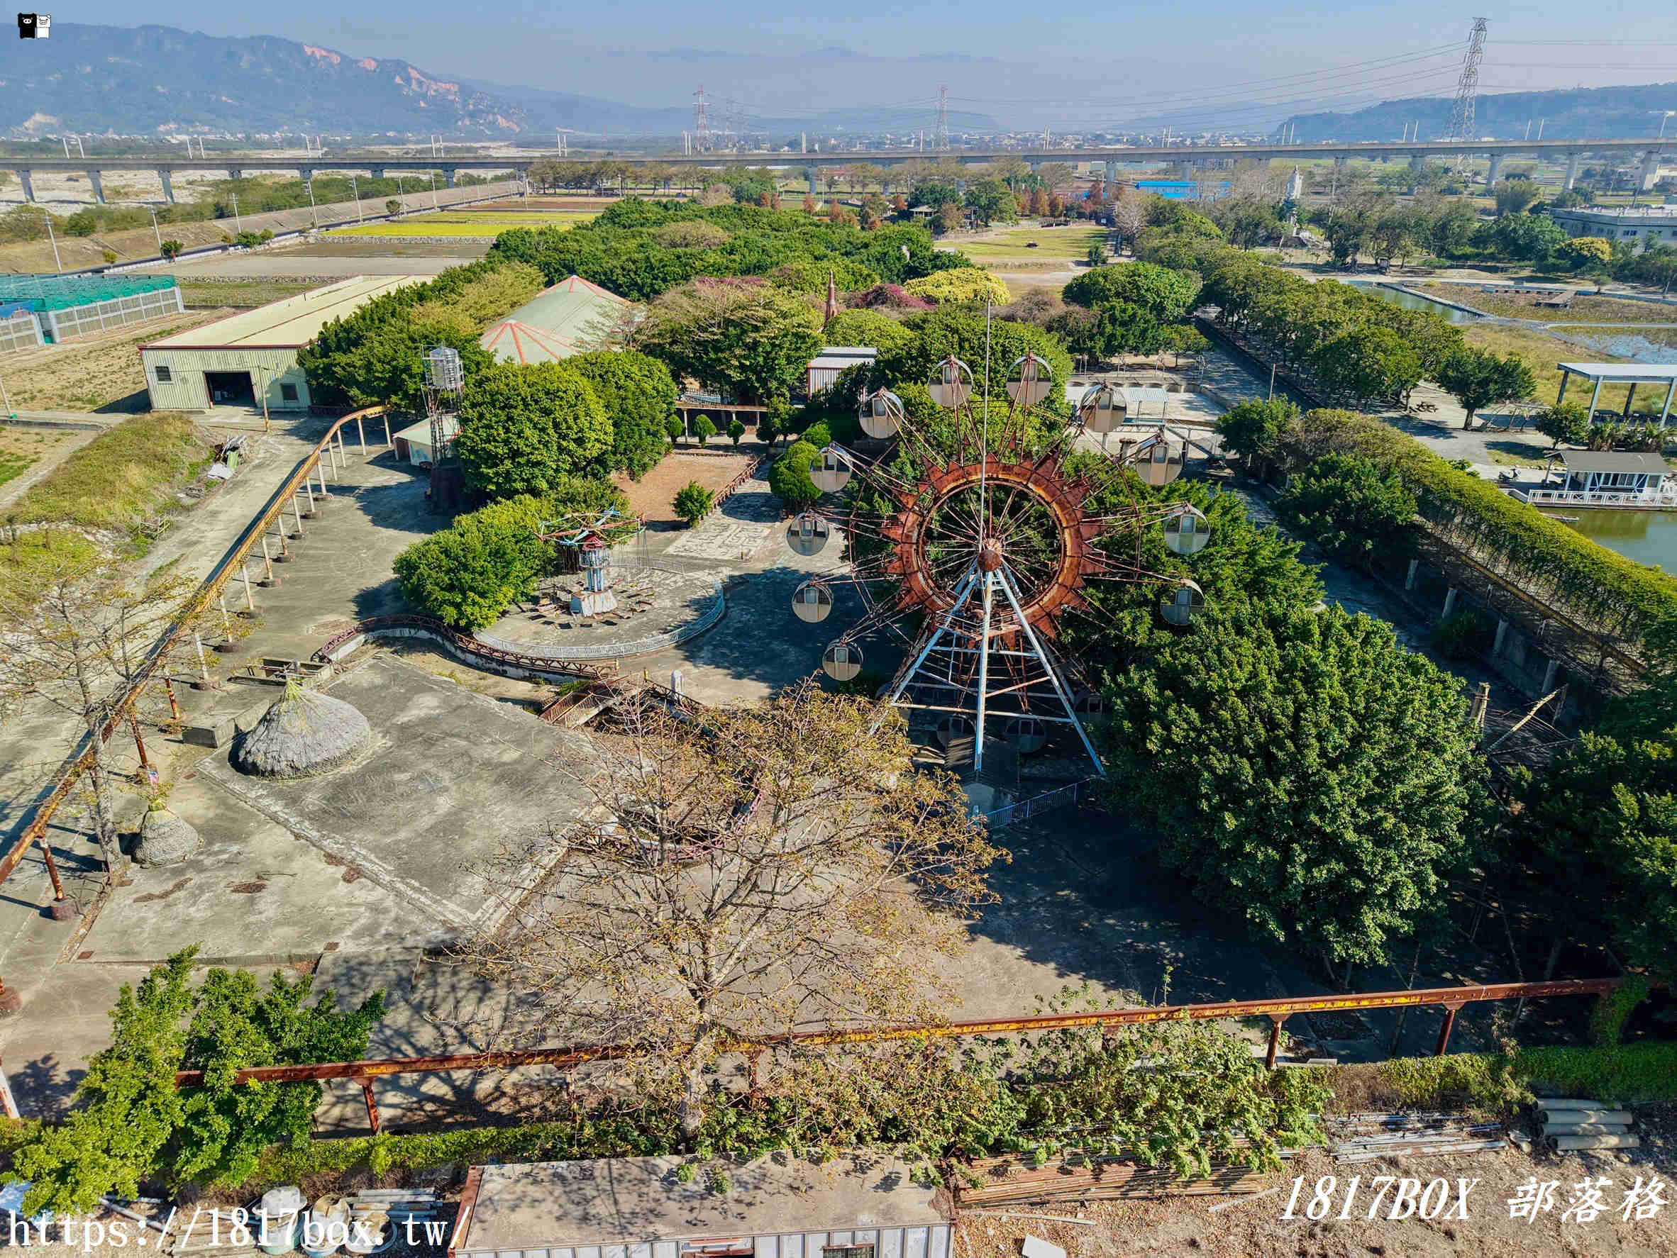
[[[714,243],[669,243],[683,238],[669,231],[672,225],[691,223],[721,228],[726,240],[708,235],[706,240]],[[919,226],[860,231],[793,210],[743,205],[703,208],[634,196],[580,226],[505,231],[490,250],[490,258],[530,262],[542,268],[548,283],[580,275],[636,302],[649,302],[699,277],[771,275],[783,267],[793,268],[787,277],[795,289],[818,292],[827,285],[827,265],[857,267],[845,272],[857,287],[869,287],[860,282],[865,275],[902,283],[969,265],[954,253],[934,252],[931,233]],[[817,263],[815,270],[808,263]],[[818,277],[818,287],[803,287],[812,275]]]

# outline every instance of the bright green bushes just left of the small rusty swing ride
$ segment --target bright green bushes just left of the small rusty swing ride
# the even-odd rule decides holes
[[[517,496],[459,515],[396,557],[396,580],[416,612],[471,632],[535,595],[553,572],[553,545],[537,525],[569,512],[627,510],[609,481],[560,476],[543,496]]]

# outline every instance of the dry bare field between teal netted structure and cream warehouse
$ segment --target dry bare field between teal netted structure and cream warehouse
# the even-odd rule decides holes
[[[183,315],[131,324],[94,337],[47,346],[7,361],[5,386],[20,411],[149,409],[139,346],[173,332],[223,319],[231,310],[215,307]]]

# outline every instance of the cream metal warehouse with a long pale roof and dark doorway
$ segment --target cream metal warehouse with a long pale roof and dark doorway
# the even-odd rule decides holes
[[[309,381],[297,351],[334,319],[423,275],[356,275],[139,347],[154,411],[252,406],[307,411]]]

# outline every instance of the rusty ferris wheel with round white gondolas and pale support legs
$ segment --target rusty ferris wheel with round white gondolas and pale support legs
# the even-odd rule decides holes
[[[864,639],[896,632],[907,651],[885,703],[932,715],[946,746],[971,740],[974,772],[984,767],[986,736],[1030,753],[1058,725],[1105,773],[1080,720],[1088,696],[1057,654],[1063,617],[1092,612],[1090,582],[1159,582],[1159,614],[1174,626],[1204,607],[1192,580],[1142,564],[1150,528],[1160,527],[1177,555],[1209,540],[1196,507],[1144,502],[1135,490],[1135,481],[1176,480],[1187,443],[1172,441],[1162,423],[1125,428],[1120,386],[1090,387],[1070,421],[1041,406],[1053,389],[1048,364],[1025,354],[1008,369],[1005,409],[974,396],[971,367],[953,356],[927,384],[939,408],[932,416],[914,421],[897,394],[864,391],[859,419],[872,453],[860,453],[862,443],[822,450],[810,480],[833,502],[832,515],[808,510],[787,525],[800,555],[818,554],[837,532],[845,545],[844,569],[803,582],[793,614],[825,621],[842,584],[865,606],[822,652],[823,671],[855,679]],[[1107,436],[1119,429],[1108,451]]]

